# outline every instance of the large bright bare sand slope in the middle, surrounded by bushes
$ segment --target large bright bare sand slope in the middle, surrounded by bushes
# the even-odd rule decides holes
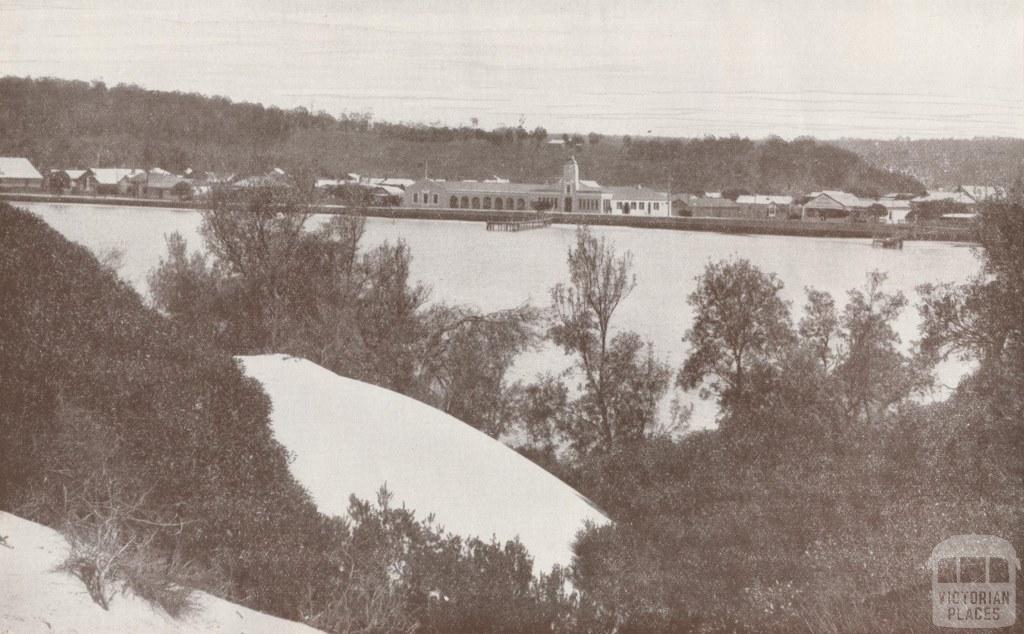
[[[535,572],[570,563],[584,522],[607,521],[558,478],[434,408],[302,358],[239,358],[269,394],[274,435],[325,513],[344,514],[353,493],[376,499],[386,482],[396,504],[433,513],[452,533],[518,536]]]

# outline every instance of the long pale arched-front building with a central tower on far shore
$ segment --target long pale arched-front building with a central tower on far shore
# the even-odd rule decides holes
[[[580,178],[575,158],[565,162],[562,176],[551,183],[506,180],[434,180],[423,178],[406,187],[402,206],[435,209],[561,212],[621,215],[670,215],[669,197],[643,186],[606,187]]]

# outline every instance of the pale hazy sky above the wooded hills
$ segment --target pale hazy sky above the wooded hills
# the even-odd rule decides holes
[[[1024,137],[1024,0],[0,0],[0,76],[377,121]]]

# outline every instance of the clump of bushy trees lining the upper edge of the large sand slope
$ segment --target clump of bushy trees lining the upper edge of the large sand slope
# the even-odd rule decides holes
[[[168,239],[150,276],[157,307],[232,354],[300,355],[498,433],[505,377],[535,340],[538,311],[428,308],[404,242],[360,250],[357,217],[307,226],[310,200],[280,187],[218,193],[204,211],[206,253]]]

